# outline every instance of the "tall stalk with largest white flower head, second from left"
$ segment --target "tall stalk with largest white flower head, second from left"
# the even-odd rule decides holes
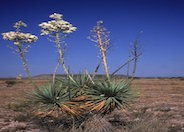
[[[41,27],[41,35],[49,35],[49,37],[53,37],[55,39],[56,42],[56,46],[58,48],[58,52],[59,52],[59,58],[60,61],[58,61],[58,64],[56,66],[56,70],[53,74],[53,80],[55,78],[55,74],[57,71],[57,67],[59,67],[58,65],[61,63],[63,66],[64,71],[66,72],[66,74],[69,76],[69,78],[75,82],[73,80],[73,78],[69,75],[68,70],[65,66],[65,62],[64,62],[64,48],[65,47],[65,43],[63,43],[61,41],[60,36],[62,35],[62,37],[64,38],[67,34],[70,34],[74,31],[76,31],[76,27],[72,26],[72,24],[70,24],[69,22],[65,21],[62,19],[62,14],[58,14],[58,13],[54,13],[52,15],[50,15],[49,17],[54,19],[48,22],[43,22],[41,24],[39,24],[39,26]],[[54,83],[54,81],[53,81]]]

